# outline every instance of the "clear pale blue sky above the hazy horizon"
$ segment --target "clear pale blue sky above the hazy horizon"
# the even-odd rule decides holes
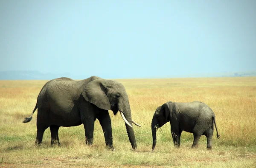
[[[256,0],[1,0],[0,71],[138,78],[256,70]]]

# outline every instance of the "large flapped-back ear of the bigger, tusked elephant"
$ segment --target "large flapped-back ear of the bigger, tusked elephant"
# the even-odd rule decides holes
[[[102,80],[104,79],[91,81],[84,88],[82,95],[86,101],[89,101],[100,109],[110,110],[110,102],[106,95],[107,88],[103,86]]]

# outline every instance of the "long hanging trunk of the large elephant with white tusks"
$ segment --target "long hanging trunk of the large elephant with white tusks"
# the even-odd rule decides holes
[[[129,103],[125,105],[123,110],[120,109],[119,111],[124,113],[126,120],[132,126],[131,109],[130,109]],[[126,131],[127,131],[131,146],[133,149],[136,149],[137,143],[136,143],[136,139],[135,139],[135,135],[134,135],[134,129],[131,126],[128,126],[128,124],[126,124],[126,123],[125,123],[125,126],[126,126]]]

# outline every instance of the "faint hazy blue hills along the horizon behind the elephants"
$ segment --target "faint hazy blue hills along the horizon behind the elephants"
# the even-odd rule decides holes
[[[85,79],[90,76],[99,76],[97,74],[85,74],[83,76],[73,75],[71,73],[41,73],[38,71],[3,71],[0,72],[0,80],[51,80],[54,78],[68,77],[72,79]],[[238,77],[238,76],[256,76],[256,71],[251,72],[233,72],[233,73],[198,73],[198,74],[187,74],[187,75],[175,75],[170,76],[150,76],[145,74],[144,76],[136,76],[134,78],[201,78],[201,77]],[[124,76],[118,76],[114,74],[102,74],[99,76],[106,79],[120,79],[125,78]],[[132,78],[132,77],[128,77]]]

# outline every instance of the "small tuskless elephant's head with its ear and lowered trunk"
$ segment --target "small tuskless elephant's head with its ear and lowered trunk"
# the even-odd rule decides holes
[[[169,103],[172,103],[172,102],[169,101],[163,104],[162,106],[157,107],[154,113],[152,123],[151,123],[151,130],[152,130],[152,137],[153,137],[152,151],[154,151],[154,148],[157,144],[157,134],[156,134],[157,129],[169,121],[169,116],[170,116]]]

